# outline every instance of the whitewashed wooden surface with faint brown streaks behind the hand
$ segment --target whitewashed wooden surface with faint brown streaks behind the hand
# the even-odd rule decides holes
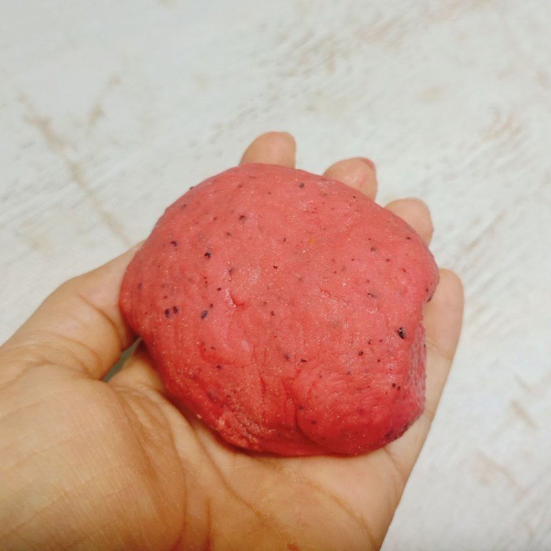
[[[287,129],[422,196],[466,326],[384,550],[551,548],[551,2],[0,0],[0,340]]]

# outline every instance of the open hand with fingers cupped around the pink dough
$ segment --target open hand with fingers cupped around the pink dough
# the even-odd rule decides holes
[[[242,163],[294,166],[289,134],[264,134]],[[363,191],[353,158],[327,176]],[[387,206],[428,242],[423,202]],[[165,395],[118,291],[136,249],[63,284],[0,349],[3,550],[369,550],[379,548],[450,369],[463,298],[440,273],[426,304],[426,408],[396,441],[360,457],[257,457],[223,446]]]

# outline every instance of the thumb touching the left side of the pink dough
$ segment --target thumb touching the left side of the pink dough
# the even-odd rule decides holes
[[[118,308],[118,293],[140,246],[54,291],[1,347],[0,357],[14,370],[4,370],[3,377],[44,364],[103,377],[134,337]]]

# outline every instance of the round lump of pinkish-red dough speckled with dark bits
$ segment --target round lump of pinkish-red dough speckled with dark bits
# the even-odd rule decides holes
[[[169,393],[229,443],[355,455],[422,412],[437,281],[417,233],[359,191],[244,165],[165,211],[121,308]]]

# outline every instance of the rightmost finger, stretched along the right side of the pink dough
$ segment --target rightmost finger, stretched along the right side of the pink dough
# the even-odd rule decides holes
[[[450,372],[463,318],[463,286],[449,270],[440,270],[440,282],[424,309],[426,328],[426,402],[424,413],[404,436],[387,446],[409,473],[428,434]]]

